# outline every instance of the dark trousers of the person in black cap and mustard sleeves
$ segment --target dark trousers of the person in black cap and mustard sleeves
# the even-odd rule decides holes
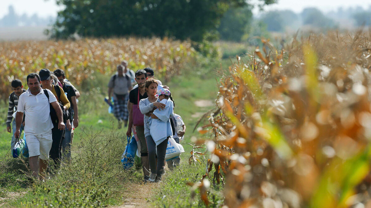
[[[53,159],[55,168],[59,168],[60,160],[62,158],[62,141],[65,130],[59,130],[58,126],[52,128],[52,148],[50,149],[49,156]]]

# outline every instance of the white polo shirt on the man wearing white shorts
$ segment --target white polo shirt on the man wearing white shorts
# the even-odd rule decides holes
[[[53,128],[49,103],[57,101],[57,98],[52,91],[46,91],[49,93],[49,102],[41,87],[37,95],[31,94],[29,88],[19,96],[17,111],[26,114],[24,120],[25,135],[41,135]]]

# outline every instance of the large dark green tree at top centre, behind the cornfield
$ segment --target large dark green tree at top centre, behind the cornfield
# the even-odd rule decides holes
[[[200,41],[216,30],[230,6],[245,0],[56,0],[58,13],[50,34],[54,38],[110,36],[170,36]],[[260,0],[265,4],[275,0]]]

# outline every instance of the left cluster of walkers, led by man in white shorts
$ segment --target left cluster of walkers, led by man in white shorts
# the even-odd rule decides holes
[[[14,92],[9,95],[6,121],[7,131],[13,128],[11,147],[13,149],[24,131],[30,169],[36,178],[45,176],[49,157],[54,161],[50,172],[59,168],[62,158],[66,162],[70,160],[73,129],[79,125],[77,98],[80,93],[65,78],[61,69],[52,73],[44,68],[39,74],[27,76],[27,90],[19,79],[11,83]],[[14,111],[16,116],[12,122]]]

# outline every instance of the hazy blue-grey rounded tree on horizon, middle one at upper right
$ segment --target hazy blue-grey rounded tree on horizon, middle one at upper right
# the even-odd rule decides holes
[[[322,12],[314,7],[305,8],[301,13],[303,24],[318,28],[335,27],[334,20],[326,17]]]

